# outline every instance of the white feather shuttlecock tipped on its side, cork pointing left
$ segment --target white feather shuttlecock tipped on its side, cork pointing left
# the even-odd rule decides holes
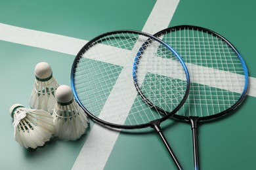
[[[27,109],[15,104],[9,110],[13,118],[14,139],[25,148],[43,146],[54,133],[53,117],[45,110]]]

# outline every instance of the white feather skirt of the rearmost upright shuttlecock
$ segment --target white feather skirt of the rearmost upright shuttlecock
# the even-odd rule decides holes
[[[32,109],[42,109],[52,114],[56,103],[54,94],[58,86],[60,84],[54,77],[45,82],[35,79],[30,95],[30,107]]]

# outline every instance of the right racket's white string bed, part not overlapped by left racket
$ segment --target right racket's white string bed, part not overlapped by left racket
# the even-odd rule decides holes
[[[177,114],[209,116],[238,101],[245,85],[244,69],[226,42],[211,33],[188,28],[161,36],[169,37],[167,43],[179,50],[190,73],[190,95]]]

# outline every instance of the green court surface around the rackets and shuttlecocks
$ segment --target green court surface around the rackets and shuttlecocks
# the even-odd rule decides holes
[[[14,103],[29,107],[37,63],[48,62],[58,82],[70,86],[75,55],[93,37],[117,29],[156,33],[160,27],[183,24],[207,27],[226,37],[242,54],[251,80],[247,97],[230,116],[199,124],[201,169],[256,169],[255,7],[255,1],[231,0],[1,1],[0,169],[86,169],[75,161],[95,128],[93,120],[77,141],[53,138],[35,150],[14,141],[9,108]],[[182,167],[193,169],[190,124],[170,119],[162,127]],[[85,148],[87,169],[176,169],[153,129],[123,130],[109,145],[107,151],[97,150],[102,146],[87,148],[96,154],[85,154]]]

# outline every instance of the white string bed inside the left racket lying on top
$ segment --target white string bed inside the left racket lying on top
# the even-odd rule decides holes
[[[111,111],[114,112],[114,116],[121,112],[123,106],[126,107],[128,105],[125,102],[129,96],[134,99],[124,125],[147,124],[152,120],[163,117],[163,114],[160,114],[158,110],[151,109],[154,106],[148,107],[148,103],[143,101],[137,94],[133,84],[134,59],[145,41],[150,43],[141,52],[141,54],[143,53],[143,58],[139,62],[139,68],[141,69],[137,78],[142,88],[142,93],[146,94],[146,97],[150,98],[154,105],[164,107],[163,110],[167,110],[165,115],[181,102],[186,92],[187,82],[184,69],[181,63],[177,61],[176,56],[171,52],[167,52],[168,49],[165,46],[157,41],[148,39],[148,37],[121,33],[121,35],[108,35],[98,39],[81,53],[81,58],[79,59],[79,66],[81,65],[81,67],[76,67],[75,71],[75,84],[77,84],[75,85],[75,90],[81,103],[85,105],[89,112],[93,112],[95,116],[100,115],[112,89],[116,86],[116,82],[119,81],[121,85],[118,88],[123,89],[120,89],[119,93],[114,93],[115,101],[111,101],[115,103],[114,107],[116,109],[112,108]],[[173,58],[174,62],[170,63],[168,60],[171,60],[171,58]],[[163,64],[165,64],[164,67]],[[160,69],[160,67],[165,70]],[[179,77],[183,80],[167,77],[169,76],[167,72],[175,71],[175,69],[180,72],[180,76],[183,75],[183,77]],[[177,73],[172,74],[175,75]],[[161,92],[163,90],[168,92]],[[106,111],[109,112],[109,110]],[[111,113],[108,115],[111,115]],[[116,116],[117,120],[114,120],[114,116],[110,116],[109,120],[106,121],[119,124],[118,116]]]

